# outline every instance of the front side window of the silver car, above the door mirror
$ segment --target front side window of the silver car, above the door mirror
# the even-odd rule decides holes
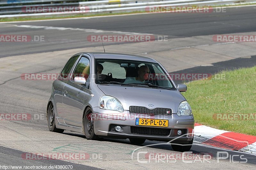
[[[76,65],[74,74],[72,75],[72,79],[74,80],[74,78],[76,76],[78,77],[85,77],[86,80],[89,78],[90,75],[90,60],[86,57],[82,57],[78,64]]]

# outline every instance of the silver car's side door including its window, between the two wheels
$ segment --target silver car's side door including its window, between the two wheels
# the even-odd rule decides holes
[[[87,56],[82,56],[77,63],[73,73],[63,88],[62,108],[63,118],[66,124],[82,127],[84,96],[87,92],[87,86],[90,81],[90,60]],[[74,83],[76,76],[86,78],[86,85],[78,85]]]

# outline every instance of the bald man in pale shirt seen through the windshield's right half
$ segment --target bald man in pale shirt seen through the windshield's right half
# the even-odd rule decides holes
[[[137,77],[126,77],[124,83],[141,83],[148,79],[148,66],[140,66]]]

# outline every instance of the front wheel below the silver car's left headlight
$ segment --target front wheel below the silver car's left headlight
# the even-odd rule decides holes
[[[87,108],[84,114],[83,130],[86,139],[99,140],[100,138],[94,132],[94,120],[91,108]]]

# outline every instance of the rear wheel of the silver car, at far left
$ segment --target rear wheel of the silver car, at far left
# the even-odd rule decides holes
[[[48,112],[47,112],[47,123],[48,123],[48,128],[49,131],[52,132],[57,132],[57,133],[62,133],[64,130],[63,129],[57,129],[55,125],[55,111],[52,103],[48,107]]]

